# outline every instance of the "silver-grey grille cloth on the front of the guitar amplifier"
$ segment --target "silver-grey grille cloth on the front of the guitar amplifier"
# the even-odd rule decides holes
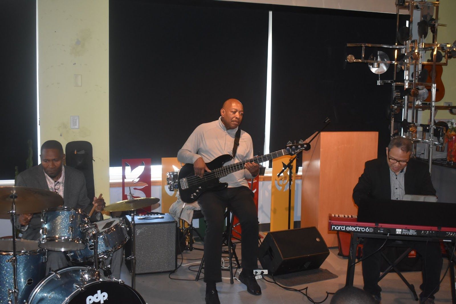
[[[174,270],[176,222],[136,225],[136,273]]]

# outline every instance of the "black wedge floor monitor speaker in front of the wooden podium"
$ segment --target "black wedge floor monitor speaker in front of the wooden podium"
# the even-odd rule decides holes
[[[269,232],[259,246],[258,259],[268,273],[278,275],[315,269],[329,255],[316,227]]]

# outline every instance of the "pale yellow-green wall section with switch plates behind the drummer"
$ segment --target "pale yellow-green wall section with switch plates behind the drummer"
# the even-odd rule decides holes
[[[95,194],[109,202],[109,0],[38,0],[37,10],[41,143],[91,142]]]

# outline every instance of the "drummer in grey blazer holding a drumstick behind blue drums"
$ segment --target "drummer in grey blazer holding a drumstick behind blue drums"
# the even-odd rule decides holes
[[[60,142],[47,141],[41,146],[41,164],[19,173],[16,186],[46,189],[60,194],[63,206],[78,208],[89,214],[95,206],[95,212],[90,220],[102,220],[101,211],[105,202],[100,195],[94,197],[92,203],[87,197],[84,174],[78,169],[64,166],[65,154]],[[19,228],[23,239],[39,240],[41,214],[21,214],[18,216]],[[68,266],[63,252],[47,252],[46,273]]]

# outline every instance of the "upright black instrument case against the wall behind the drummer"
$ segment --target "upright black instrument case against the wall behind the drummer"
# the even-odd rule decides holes
[[[95,196],[93,181],[93,148],[90,142],[74,141],[65,146],[67,166],[73,167],[84,173],[87,187],[87,197],[90,201]]]

